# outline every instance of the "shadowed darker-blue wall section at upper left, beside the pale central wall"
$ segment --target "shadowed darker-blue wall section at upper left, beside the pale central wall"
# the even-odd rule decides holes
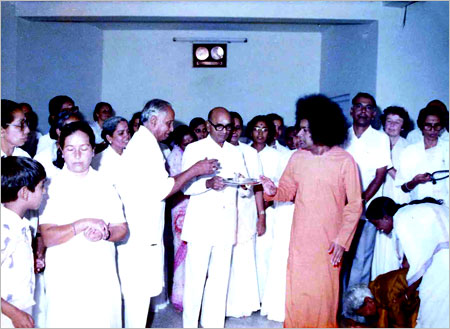
[[[16,101],[27,102],[47,131],[48,102],[68,95],[92,118],[100,101],[102,31],[89,24],[43,23],[19,19]]]

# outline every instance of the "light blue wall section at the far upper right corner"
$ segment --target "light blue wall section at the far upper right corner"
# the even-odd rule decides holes
[[[386,9],[387,10],[387,9]],[[449,106],[449,3],[416,2],[379,23],[377,101],[404,106],[416,121],[438,98]]]

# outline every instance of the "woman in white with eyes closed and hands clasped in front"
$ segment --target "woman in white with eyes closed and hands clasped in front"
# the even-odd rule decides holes
[[[90,169],[95,136],[89,124],[61,129],[64,167],[48,188],[40,216],[47,247],[47,327],[120,328],[121,293],[114,242],[128,226],[114,187]]]

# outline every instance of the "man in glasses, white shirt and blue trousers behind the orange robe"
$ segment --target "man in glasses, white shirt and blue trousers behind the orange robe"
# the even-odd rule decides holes
[[[377,106],[375,98],[368,93],[360,92],[352,99],[352,104],[350,115],[353,118],[353,125],[349,128],[345,149],[358,164],[363,189],[362,199],[367,205],[371,199],[381,196],[380,187],[384,182],[387,168],[392,166],[390,142],[386,134],[370,126]],[[363,214],[350,252],[346,254],[344,260],[343,293],[347,287],[354,284],[369,283],[375,236],[376,229],[367,223]]]

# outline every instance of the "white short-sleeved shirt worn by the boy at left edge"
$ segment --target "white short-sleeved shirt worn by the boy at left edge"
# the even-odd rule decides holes
[[[34,305],[34,260],[27,219],[1,206],[1,295],[24,310]]]

